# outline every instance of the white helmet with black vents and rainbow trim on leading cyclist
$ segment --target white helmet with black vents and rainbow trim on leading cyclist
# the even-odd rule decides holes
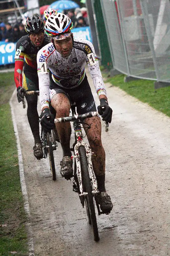
[[[61,13],[52,14],[46,20],[45,32],[48,36],[57,36],[68,33],[73,28],[71,19]]]

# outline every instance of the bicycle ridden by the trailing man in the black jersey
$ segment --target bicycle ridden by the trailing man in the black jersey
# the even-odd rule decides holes
[[[25,91],[24,95],[39,95],[39,91]],[[23,108],[25,108],[25,100],[22,100]],[[47,117],[48,118],[48,117]],[[40,121],[40,117],[39,117]],[[56,180],[55,173],[55,163],[54,163],[54,150],[58,147],[57,142],[55,140],[55,133],[53,130],[51,132],[45,132],[41,126],[41,143],[43,147],[43,158],[49,157],[50,169],[52,172],[53,180]]]

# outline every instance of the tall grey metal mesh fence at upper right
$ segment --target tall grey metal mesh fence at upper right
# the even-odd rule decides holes
[[[114,68],[129,77],[169,83],[169,0],[100,2]]]

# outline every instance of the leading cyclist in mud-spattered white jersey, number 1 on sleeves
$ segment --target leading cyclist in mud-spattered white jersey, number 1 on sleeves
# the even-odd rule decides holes
[[[46,21],[46,34],[52,43],[44,46],[37,54],[39,76],[39,100],[41,104],[41,125],[46,131],[54,127],[54,116],[50,113],[49,102],[56,111],[56,118],[69,116],[71,102],[76,103],[78,114],[96,111],[95,101],[85,74],[85,65],[93,79],[100,106],[98,112],[106,122],[111,122],[112,109],[108,105],[106,89],[100,72],[93,44],[85,39],[73,38],[73,24],[63,13],[50,15]],[[52,74],[52,75],[51,75]],[[104,110],[103,108],[104,107]],[[46,118],[50,116],[50,118]],[[105,189],[105,151],[101,141],[101,121],[99,117],[87,118],[84,125],[96,175],[100,208],[109,213],[113,204]],[[65,179],[73,177],[73,162],[70,150],[70,123],[56,124],[63,158],[60,173]]]

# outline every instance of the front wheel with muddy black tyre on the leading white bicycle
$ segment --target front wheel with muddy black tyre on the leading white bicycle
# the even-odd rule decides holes
[[[85,197],[87,216],[89,219],[89,224],[91,223],[93,227],[94,240],[99,241],[100,238],[99,238],[98,228],[97,228],[95,206],[93,202],[92,187],[91,187],[91,181],[89,177],[86,149],[84,146],[79,147],[79,154],[80,154],[83,190],[88,193],[87,196]]]

